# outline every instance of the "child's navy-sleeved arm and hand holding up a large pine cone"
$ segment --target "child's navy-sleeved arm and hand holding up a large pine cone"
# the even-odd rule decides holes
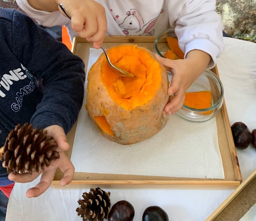
[[[43,84],[43,97],[38,97],[38,105],[30,123],[49,131],[58,143],[61,156],[43,171],[37,188],[28,190],[29,197],[36,197],[49,187],[56,168],[66,172],[61,181],[62,185],[70,182],[73,177],[74,167],[63,151],[69,148],[65,133],[77,120],[84,98],[84,63],[64,44],[18,11],[13,13],[11,27],[9,39],[13,54],[31,75],[42,80]],[[9,178],[16,182],[26,182],[34,180],[38,175],[10,174]]]

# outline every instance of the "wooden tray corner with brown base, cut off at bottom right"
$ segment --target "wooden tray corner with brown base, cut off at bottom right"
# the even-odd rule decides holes
[[[256,204],[256,170],[206,219],[239,221]]]

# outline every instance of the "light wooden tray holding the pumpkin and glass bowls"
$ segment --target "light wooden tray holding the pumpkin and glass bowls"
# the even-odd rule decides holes
[[[133,43],[142,47],[146,47],[154,51],[155,37],[151,36],[136,36],[136,37],[120,37],[111,36],[105,37],[104,47],[108,48],[114,45]],[[81,57],[85,63],[85,70],[87,70],[89,60],[89,50],[93,48],[92,43],[88,43],[85,39],[75,37],[73,41],[72,52]],[[218,76],[217,67],[212,71]],[[225,101],[221,112],[216,117],[218,141],[222,157],[222,164],[224,168],[225,179],[199,179],[199,178],[182,178],[182,177],[157,177],[157,176],[137,176],[137,175],[120,175],[120,174],[99,174],[99,173],[78,173],[76,172],[73,181],[64,188],[85,188],[85,185],[95,186],[100,185],[102,188],[110,187],[129,187],[129,188],[209,188],[209,189],[234,189],[242,181],[242,176],[237,160],[236,149],[232,137],[232,132],[229,124],[228,113],[226,110]],[[67,156],[71,157],[73,148],[74,135],[77,123],[73,126],[67,139],[70,144],[70,149],[66,152]],[[63,188],[59,185],[59,181],[63,177],[63,173],[57,170],[54,181],[52,182],[53,188]]]

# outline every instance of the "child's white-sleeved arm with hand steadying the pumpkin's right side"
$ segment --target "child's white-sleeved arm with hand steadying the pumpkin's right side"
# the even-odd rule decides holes
[[[185,92],[205,69],[213,68],[224,51],[221,17],[215,12],[215,0],[169,1],[169,13],[176,13],[171,27],[185,52],[185,59],[159,59],[174,70],[168,95],[174,94],[164,111],[174,114],[183,105]],[[185,2],[185,5],[184,5]],[[173,11],[173,8],[179,9]]]

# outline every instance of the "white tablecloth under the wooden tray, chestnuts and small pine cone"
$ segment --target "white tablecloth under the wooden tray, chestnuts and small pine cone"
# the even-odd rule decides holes
[[[256,129],[256,44],[224,38],[225,52],[217,59],[217,67],[229,114],[230,124],[242,121],[250,130]],[[237,149],[243,180],[256,169],[256,149],[250,145]],[[42,196],[27,198],[28,184],[16,183],[7,209],[7,221],[79,221],[75,209],[77,200],[89,189],[52,189]],[[233,190],[182,189],[104,189],[110,191],[112,205],[119,200],[131,202],[135,208],[134,221],[140,221],[144,209],[158,205],[170,221],[203,221]]]

